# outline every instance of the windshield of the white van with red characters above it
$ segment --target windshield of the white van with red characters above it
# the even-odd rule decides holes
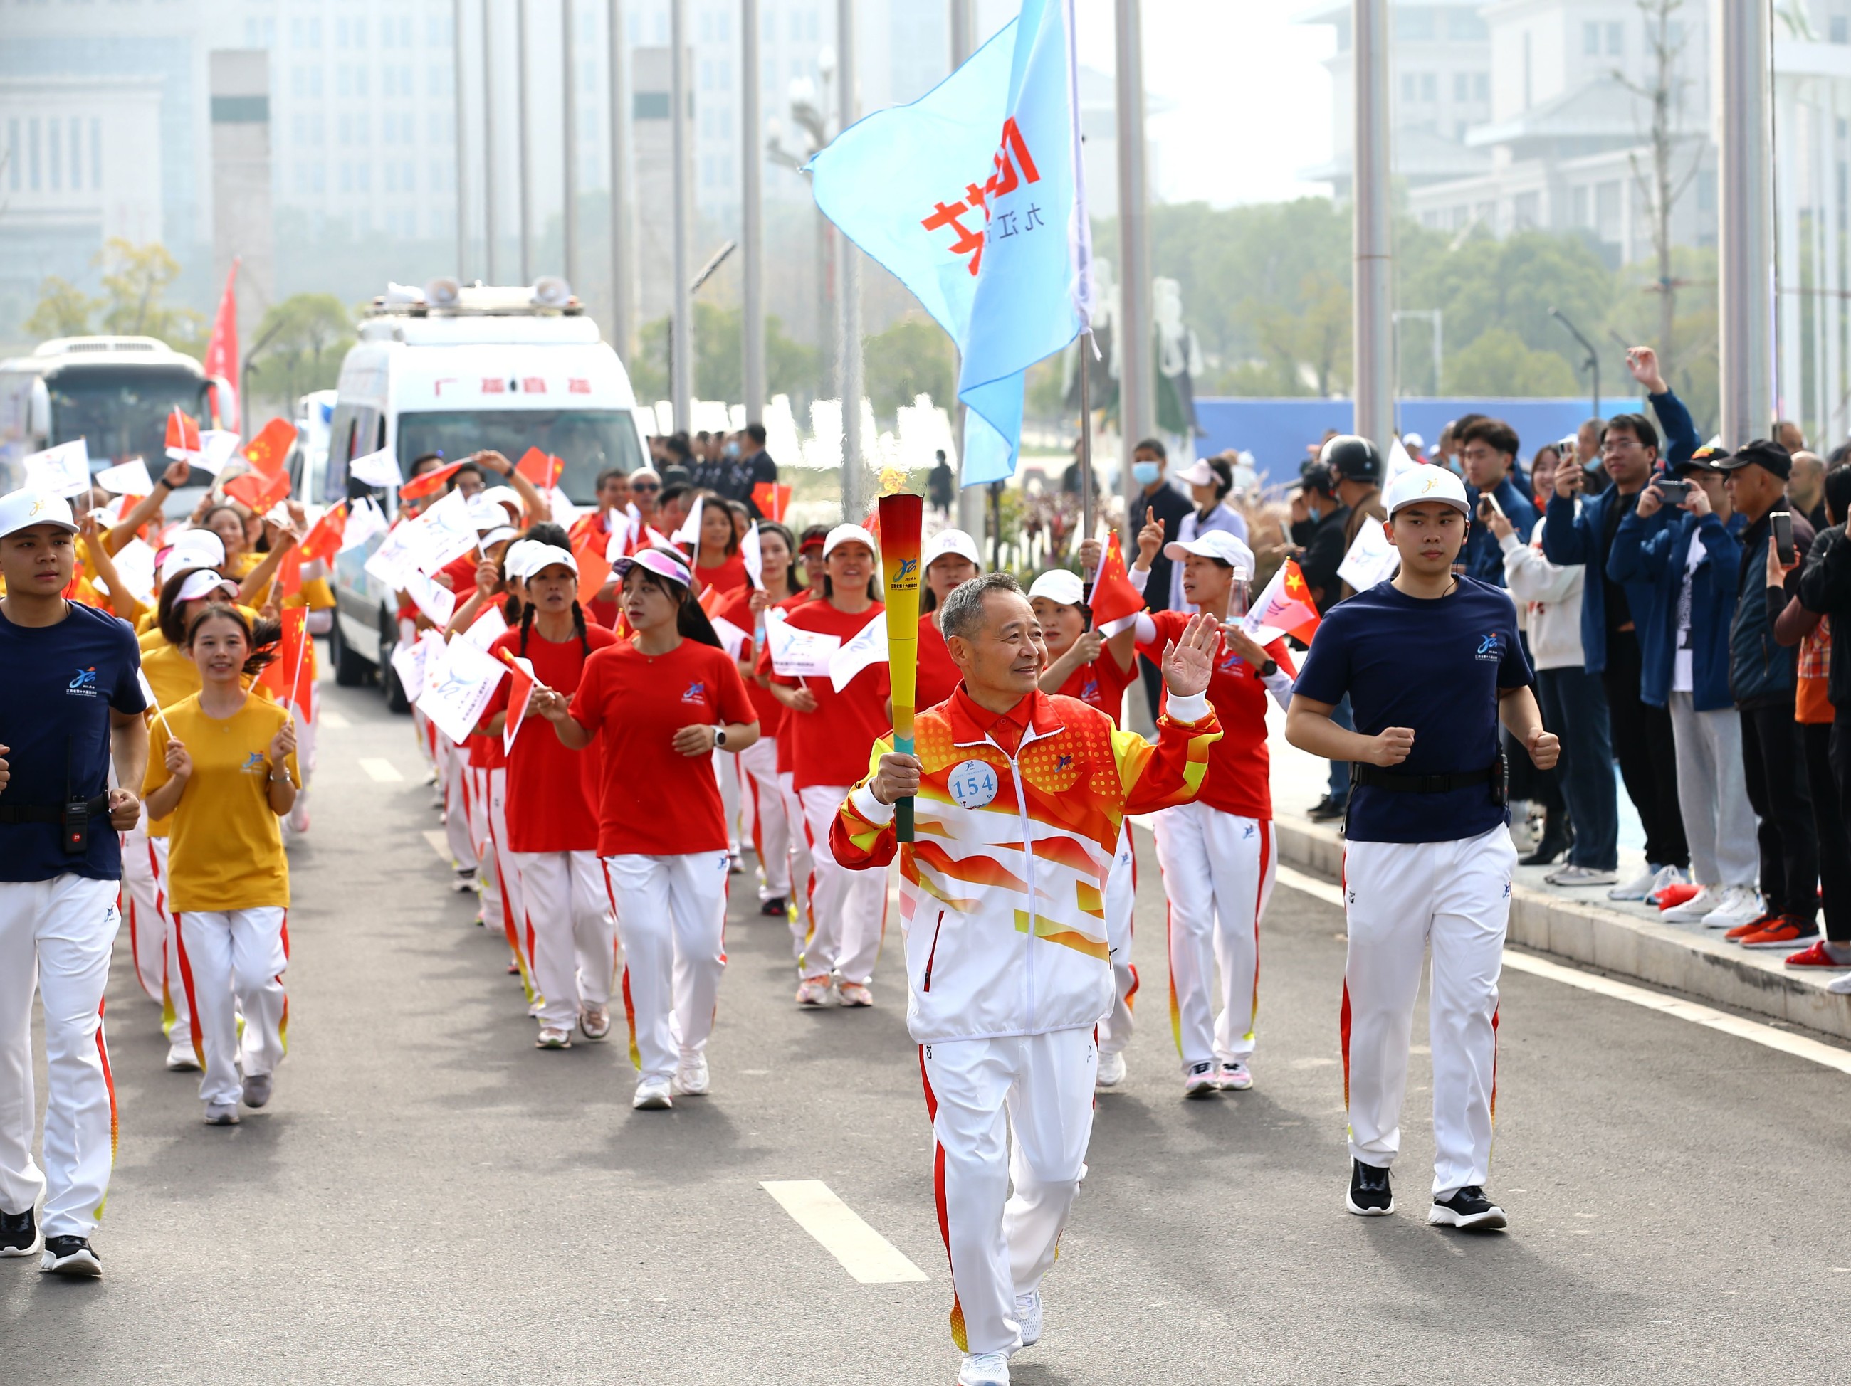
[[[411,463],[442,453],[455,463],[476,452],[498,452],[518,463],[528,448],[565,461],[559,489],[576,505],[598,498],[598,474],[613,466],[642,466],[637,426],[626,409],[470,409],[398,416],[398,468],[411,476]]]

